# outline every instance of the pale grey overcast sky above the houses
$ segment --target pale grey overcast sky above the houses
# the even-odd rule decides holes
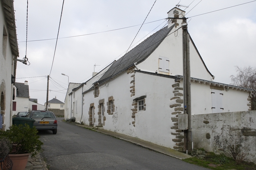
[[[256,66],[256,1],[239,5],[250,1],[65,0],[53,62],[63,0],[29,0],[28,41],[32,42],[27,42],[27,58],[30,65],[18,62],[16,82],[27,80],[30,98],[44,104],[46,76],[50,74],[49,100],[56,96],[64,102],[68,77],[61,73],[69,76],[69,82],[82,83],[91,78],[94,68],[98,72],[123,56],[155,2],[145,21],[152,23],[142,26],[130,49],[160,30],[167,23],[164,20],[167,12],[175,5],[191,4],[187,9],[180,7],[186,11],[186,17],[191,17],[187,20],[190,36],[215,81],[230,84],[230,75],[236,75],[234,66]],[[239,6],[228,8],[235,5]],[[204,14],[223,8],[228,9]],[[27,1],[14,0],[14,10],[19,59],[22,59],[26,51]],[[199,14],[204,15],[196,16]],[[120,29],[125,27],[130,28]],[[120,30],[104,32],[115,29]],[[79,36],[98,32],[104,33]],[[64,38],[70,36],[78,37]]]

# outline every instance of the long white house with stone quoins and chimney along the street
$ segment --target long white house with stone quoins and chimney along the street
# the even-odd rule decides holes
[[[178,8],[168,12],[169,18],[184,15]],[[169,148],[183,147],[177,118],[184,111],[181,23],[169,19],[168,26],[98,73],[98,79],[69,91],[69,116]],[[191,37],[189,43],[192,115],[250,110],[252,90],[214,82]]]

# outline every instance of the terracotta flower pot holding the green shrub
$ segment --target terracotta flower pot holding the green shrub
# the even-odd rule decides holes
[[[28,162],[29,153],[9,154],[9,158],[13,162],[12,170],[24,170]]]

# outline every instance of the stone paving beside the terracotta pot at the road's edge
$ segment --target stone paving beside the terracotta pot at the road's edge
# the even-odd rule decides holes
[[[31,158],[31,154],[28,157],[28,162],[25,170],[48,170],[46,164],[40,154]]]

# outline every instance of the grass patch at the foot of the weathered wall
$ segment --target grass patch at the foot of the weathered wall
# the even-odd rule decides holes
[[[217,155],[213,152],[207,152],[204,158],[186,158],[183,161],[195,164],[201,167],[216,169],[216,170],[228,170],[228,169],[236,169],[236,170],[256,170],[256,165],[252,162],[242,161],[240,164],[236,164],[233,158],[227,157],[223,154]],[[209,164],[217,165],[216,167],[211,167]]]

